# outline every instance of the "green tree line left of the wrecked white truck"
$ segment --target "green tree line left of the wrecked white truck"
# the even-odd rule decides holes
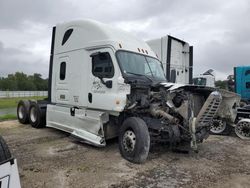
[[[23,72],[0,77],[0,91],[47,91],[48,79],[39,73],[26,75]]]

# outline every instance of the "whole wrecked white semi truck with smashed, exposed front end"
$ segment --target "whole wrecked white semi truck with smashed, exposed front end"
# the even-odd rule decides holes
[[[48,100],[22,100],[17,115],[21,123],[53,127],[96,146],[118,136],[121,155],[142,163],[158,142],[189,142],[197,150],[215,115],[234,121],[237,103],[236,95],[167,82],[145,42],[82,20],[53,27]]]

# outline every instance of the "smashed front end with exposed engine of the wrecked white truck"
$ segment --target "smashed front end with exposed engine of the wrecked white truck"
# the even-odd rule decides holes
[[[169,143],[175,147],[190,142],[191,148],[197,150],[197,143],[208,138],[214,117],[235,119],[233,107],[237,101],[237,97],[229,97],[227,92],[214,88],[171,83],[151,87],[132,84],[126,113],[145,121],[151,143]]]

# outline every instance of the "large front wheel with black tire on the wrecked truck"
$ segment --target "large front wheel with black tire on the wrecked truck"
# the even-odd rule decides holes
[[[146,123],[137,117],[126,119],[119,133],[120,153],[132,163],[143,163],[148,157],[150,136]]]

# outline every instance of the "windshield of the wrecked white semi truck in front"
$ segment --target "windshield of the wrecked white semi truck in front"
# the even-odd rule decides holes
[[[125,74],[141,75],[156,80],[166,80],[161,63],[152,57],[118,51],[117,59]]]

